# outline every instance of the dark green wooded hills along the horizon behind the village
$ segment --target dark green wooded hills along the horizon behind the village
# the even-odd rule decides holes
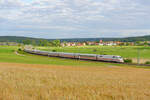
[[[121,41],[121,42],[136,42],[136,41],[150,41],[150,36],[139,37],[127,37],[127,38],[73,38],[73,39],[43,39],[43,38],[30,38],[30,37],[18,37],[18,36],[0,36],[0,42],[17,42],[39,45],[41,42],[52,42],[59,40],[60,42],[85,42],[85,41]],[[54,41],[58,42],[58,41]]]

